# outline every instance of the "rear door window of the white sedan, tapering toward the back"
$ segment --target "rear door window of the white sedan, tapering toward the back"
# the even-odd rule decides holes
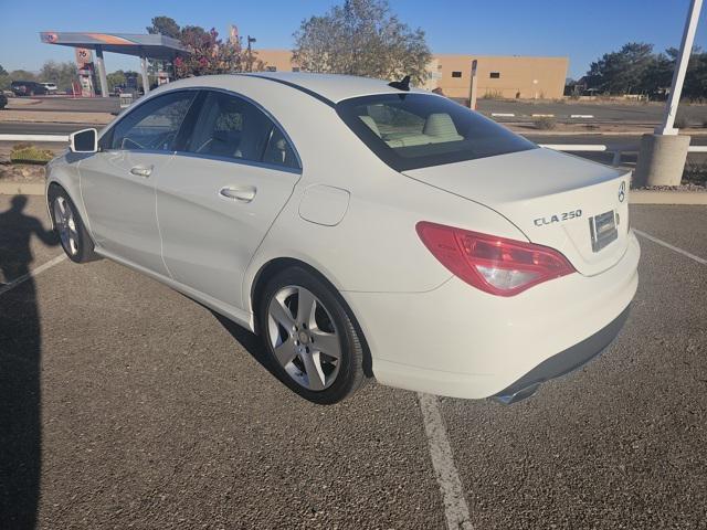
[[[221,92],[208,92],[186,150],[298,168],[292,146],[265,113],[241,97]]]

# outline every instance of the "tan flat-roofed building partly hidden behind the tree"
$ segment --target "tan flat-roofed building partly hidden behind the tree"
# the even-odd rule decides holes
[[[258,50],[257,59],[265,70],[298,72],[288,50]],[[477,97],[552,99],[562,97],[568,57],[531,57],[524,55],[434,55],[424,88],[441,88],[449,97],[468,97],[472,61],[477,61]]]

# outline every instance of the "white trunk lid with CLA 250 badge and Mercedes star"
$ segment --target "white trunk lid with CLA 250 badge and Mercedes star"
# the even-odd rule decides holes
[[[630,172],[539,148],[404,174],[494,209],[583,275],[606,271],[627,246]]]

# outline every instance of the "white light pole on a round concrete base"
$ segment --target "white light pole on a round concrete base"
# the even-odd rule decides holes
[[[685,135],[678,136],[674,125],[701,8],[703,0],[692,0],[663,121],[653,135],[643,135],[641,138],[635,173],[641,186],[678,186],[683,179],[690,138]]]

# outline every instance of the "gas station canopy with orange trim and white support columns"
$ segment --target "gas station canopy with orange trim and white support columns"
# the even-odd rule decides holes
[[[107,97],[108,91],[103,52],[122,53],[124,55],[140,57],[143,85],[146,94],[149,91],[147,82],[148,59],[173,61],[180,55],[188,55],[190,53],[177,39],[160,34],[43,31],[40,33],[40,39],[45,44],[95,50],[98,76],[101,80],[101,92],[104,97]]]

